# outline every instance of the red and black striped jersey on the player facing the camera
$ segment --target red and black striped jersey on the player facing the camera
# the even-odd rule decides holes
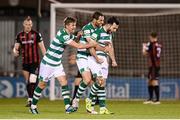
[[[42,41],[40,33],[31,30],[30,32],[20,32],[16,36],[16,43],[21,45],[23,64],[39,63],[38,43]]]

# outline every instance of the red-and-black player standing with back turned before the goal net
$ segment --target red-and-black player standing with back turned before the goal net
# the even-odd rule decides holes
[[[150,42],[143,44],[143,54],[148,57],[149,73],[148,73],[148,93],[149,99],[144,104],[160,104],[159,101],[159,70],[160,56],[162,45],[158,42],[156,32],[150,35]],[[153,93],[156,95],[156,100],[153,101]]]

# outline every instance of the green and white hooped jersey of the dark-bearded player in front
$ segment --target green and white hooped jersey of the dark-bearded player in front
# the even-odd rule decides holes
[[[112,34],[107,33],[104,28],[101,27],[92,34],[91,39],[96,40],[100,46],[105,47],[108,43],[112,43]],[[96,54],[98,56],[108,56],[108,54],[103,51],[96,51]]]

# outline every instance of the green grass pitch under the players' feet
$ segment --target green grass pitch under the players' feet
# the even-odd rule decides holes
[[[85,111],[84,101],[72,114],[65,114],[62,100],[41,99],[38,104],[40,114],[32,115],[24,107],[26,99],[0,99],[0,119],[179,119],[180,101],[162,101],[160,105],[143,105],[142,101],[107,101],[113,115],[90,115]],[[96,110],[98,110],[98,106]]]

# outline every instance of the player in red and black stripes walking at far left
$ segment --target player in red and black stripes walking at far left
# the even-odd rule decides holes
[[[32,29],[33,22],[31,17],[27,17],[23,22],[23,31],[17,34],[13,48],[14,56],[18,57],[22,53],[22,73],[27,83],[28,103],[30,107],[33,92],[36,87],[36,78],[40,63],[38,48],[44,55],[46,49],[39,32]]]

